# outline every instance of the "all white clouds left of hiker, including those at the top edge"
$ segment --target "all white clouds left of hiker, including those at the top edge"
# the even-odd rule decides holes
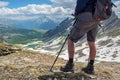
[[[51,0],[53,4],[29,4],[19,8],[5,7],[9,2],[4,3],[4,7],[0,8],[0,17],[14,20],[28,20],[42,18],[46,16],[56,22],[60,22],[74,12],[76,0]],[[6,3],[6,5],[5,5]],[[3,5],[2,5],[3,6]]]

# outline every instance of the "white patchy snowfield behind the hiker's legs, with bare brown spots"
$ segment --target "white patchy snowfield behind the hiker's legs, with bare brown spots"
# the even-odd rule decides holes
[[[52,43],[47,44],[47,46],[45,45],[42,47],[38,47],[36,49],[29,48],[29,50],[56,56],[57,52],[59,52],[62,46],[62,44],[60,44],[61,40],[63,42],[64,38],[59,37],[56,40],[54,40]],[[84,43],[82,42],[81,45],[79,44],[80,41],[75,44],[76,47],[75,47],[74,60],[77,62],[85,62],[88,60],[89,47],[86,41]],[[120,62],[120,35],[117,37],[105,36],[103,38],[97,39],[96,47],[97,47],[97,54],[96,54],[97,62],[100,61]],[[67,51],[67,43],[66,43],[59,57],[68,60],[67,53],[68,51]]]

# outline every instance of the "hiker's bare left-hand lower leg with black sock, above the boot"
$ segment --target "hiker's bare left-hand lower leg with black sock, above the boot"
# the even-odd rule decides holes
[[[69,61],[73,63],[74,59],[74,42],[70,39],[68,39],[68,55],[69,55]]]

